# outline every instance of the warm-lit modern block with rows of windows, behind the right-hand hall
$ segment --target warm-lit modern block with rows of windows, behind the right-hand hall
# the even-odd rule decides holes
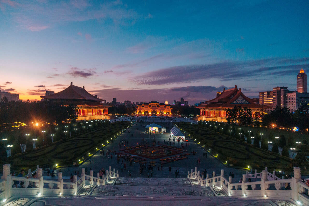
[[[259,92],[259,104],[271,106],[265,112],[273,111],[277,106],[281,106],[281,90],[288,91],[287,87],[273,87],[273,91]]]

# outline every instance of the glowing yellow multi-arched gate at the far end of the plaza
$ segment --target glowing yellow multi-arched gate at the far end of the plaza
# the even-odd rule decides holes
[[[143,103],[136,105],[136,114],[138,116],[167,116],[172,115],[171,105],[159,103],[157,101],[151,101],[149,103]]]

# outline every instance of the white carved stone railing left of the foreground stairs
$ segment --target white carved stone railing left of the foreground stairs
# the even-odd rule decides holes
[[[99,173],[97,177],[93,176],[93,171],[90,171],[90,175],[85,174],[85,169],[82,168],[82,173],[79,178],[76,175],[73,176],[73,182],[66,182],[64,180],[70,179],[69,177],[62,177],[62,172],[58,173],[58,179],[44,179],[42,168],[37,168],[36,178],[31,178],[31,173],[24,177],[11,176],[11,165],[3,165],[3,175],[0,180],[0,200],[6,202],[10,197],[25,197],[48,195],[76,195],[85,185],[105,185],[111,178],[119,177],[118,171],[115,169],[109,171],[106,170],[106,176],[100,178]],[[14,181],[23,182],[21,187],[12,187]],[[31,186],[31,187],[29,187]]]

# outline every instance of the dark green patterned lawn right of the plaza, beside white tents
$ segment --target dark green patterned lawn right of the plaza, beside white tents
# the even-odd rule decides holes
[[[233,166],[241,168],[250,166],[252,169],[268,167],[271,169],[270,171],[273,169],[291,170],[290,164],[292,161],[287,157],[261,150],[228,135],[212,131],[205,126],[186,122],[177,123],[177,126],[190,135],[189,137],[198,144],[205,145],[205,149],[224,164],[233,164]]]

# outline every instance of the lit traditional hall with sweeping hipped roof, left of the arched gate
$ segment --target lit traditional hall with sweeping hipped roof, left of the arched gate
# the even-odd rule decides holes
[[[84,86],[83,88],[77,87],[73,85],[72,82],[68,88],[62,90],[61,92],[40,97],[49,101],[57,102],[61,105],[77,105],[77,120],[109,119],[107,109],[110,105],[103,103],[105,100],[91,95],[85,90]]]

